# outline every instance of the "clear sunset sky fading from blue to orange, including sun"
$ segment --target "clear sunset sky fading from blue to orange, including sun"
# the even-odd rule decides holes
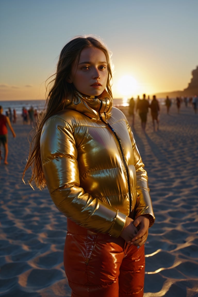
[[[198,0],[0,0],[0,100],[45,98],[63,46],[100,37],[113,97],[183,90],[198,65]]]

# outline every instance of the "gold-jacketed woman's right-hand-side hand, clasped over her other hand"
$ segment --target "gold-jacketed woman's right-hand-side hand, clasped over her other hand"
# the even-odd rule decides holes
[[[134,220],[133,225],[138,229],[138,232],[134,238],[127,241],[127,243],[129,245],[141,247],[143,244],[145,244],[148,237],[149,219],[145,216],[137,217],[137,219]]]

